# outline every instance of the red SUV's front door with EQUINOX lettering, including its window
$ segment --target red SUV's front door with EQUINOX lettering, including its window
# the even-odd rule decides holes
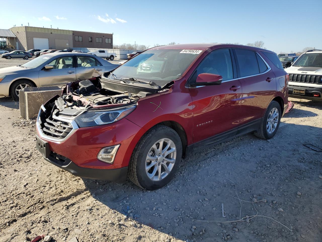
[[[201,73],[223,76],[220,85],[189,88],[194,106],[194,143],[201,141],[199,144],[207,145],[236,133],[232,129],[238,126],[242,85],[235,79],[231,54],[229,48],[212,51],[189,79],[190,84]]]

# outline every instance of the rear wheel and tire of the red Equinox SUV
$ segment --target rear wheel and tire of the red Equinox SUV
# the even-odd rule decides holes
[[[266,109],[260,122],[260,128],[255,131],[255,136],[262,139],[270,139],[276,134],[281,119],[282,111],[278,102],[272,101]]]

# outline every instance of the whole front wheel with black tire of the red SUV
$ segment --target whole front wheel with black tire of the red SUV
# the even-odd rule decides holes
[[[179,135],[167,126],[155,126],[137,143],[128,166],[128,177],[143,189],[164,187],[175,175],[181,157]]]

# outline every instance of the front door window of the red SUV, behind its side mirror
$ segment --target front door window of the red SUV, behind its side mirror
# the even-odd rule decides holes
[[[223,77],[223,81],[233,79],[232,58],[229,49],[214,50],[206,55],[196,68],[191,82],[195,82],[201,73],[220,75]]]

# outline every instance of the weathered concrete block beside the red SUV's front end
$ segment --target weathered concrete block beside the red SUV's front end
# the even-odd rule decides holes
[[[61,95],[58,86],[26,87],[19,91],[20,115],[28,120],[38,115],[40,106],[53,96]]]

